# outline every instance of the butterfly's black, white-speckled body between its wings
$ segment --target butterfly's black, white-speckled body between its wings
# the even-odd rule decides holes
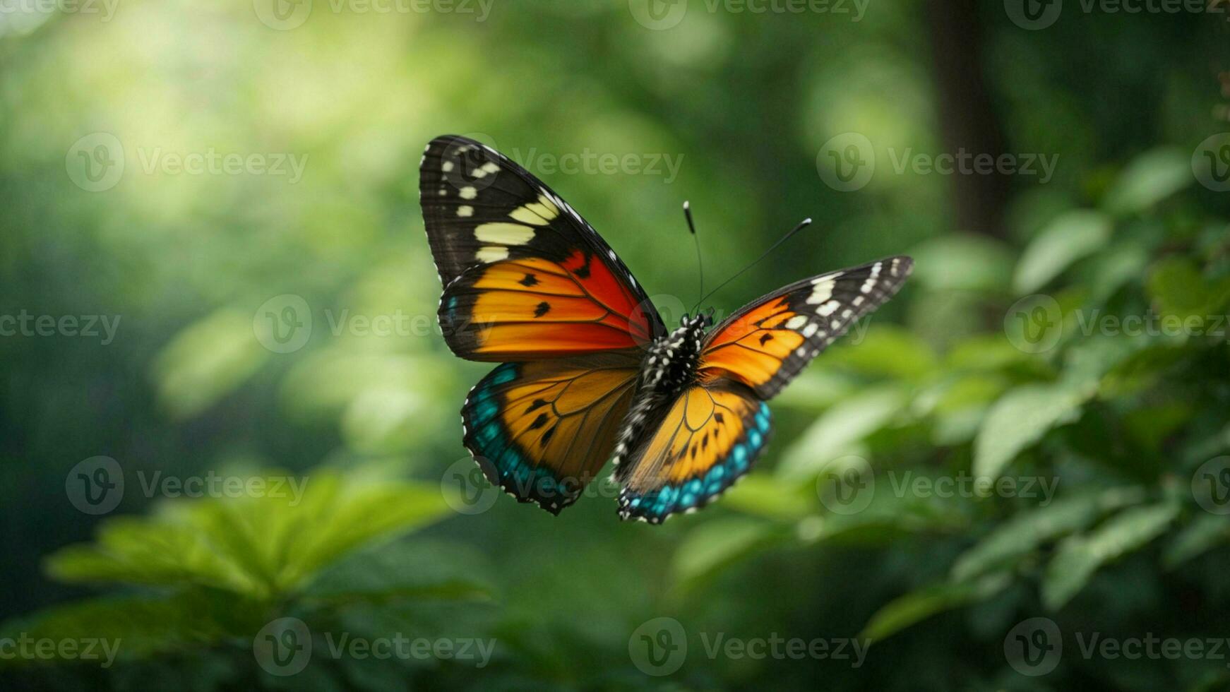
[[[636,396],[616,438],[611,457],[615,466],[632,451],[633,444],[653,423],[654,415],[661,414],[667,403],[696,377],[705,329],[712,323],[708,315],[685,315],[675,331],[656,339],[646,349]]]

